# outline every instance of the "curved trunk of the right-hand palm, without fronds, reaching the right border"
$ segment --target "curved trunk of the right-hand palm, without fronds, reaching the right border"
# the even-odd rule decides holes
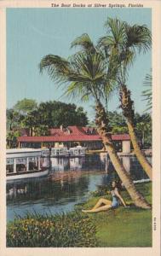
[[[147,172],[148,177],[152,180],[152,166],[148,163],[145,154],[143,154],[143,152],[141,151],[135,134],[135,127],[133,122],[134,102],[130,98],[130,91],[127,89],[126,85],[122,85],[120,87],[120,102],[121,108],[123,109],[124,117],[126,118],[126,123],[128,125],[129,136],[131,138],[131,142],[135,150],[135,155],[139,160],[144,171]]]

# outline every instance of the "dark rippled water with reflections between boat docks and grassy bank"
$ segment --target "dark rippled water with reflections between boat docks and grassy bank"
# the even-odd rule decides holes
[[[124,156],[121,160],[134,180],[147,178],[135,157]],[[117,177],[106,154],[52,158],[49,173],[50,177],[7,183],[8,221],[16,214],[23,217],[26,212],[72,211],[76,204],[86,201],[98,185]]]

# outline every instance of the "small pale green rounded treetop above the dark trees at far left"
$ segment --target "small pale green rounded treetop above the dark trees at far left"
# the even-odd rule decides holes
[[[37,102],[35,100],[26,99],[26,98],[17,102],[14,105],[14,110],[23,115],[26,115],[26,113],[29,113],[35,110],[36,108],[37,108]]]

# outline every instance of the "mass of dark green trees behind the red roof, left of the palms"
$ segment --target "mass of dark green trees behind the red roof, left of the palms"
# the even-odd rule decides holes
[[[15,107],[7,109],[7,131],[29,128],[31,136],[33,134],[35,136],[48,136],[49,128],[60,127],[60,125],[65,127],[88,125],[87,113],[83,111],[82,107],[77,108],[75,104],[55,101],[42,102],[35,108],[32,104],[34,101],[31,101],[25,99],[17,102],[15,106],[19,108],[20,112],[15,111]],[[26,102],[30,102],[31,105],[26,106]],[[25,105],[24,108],[21,107],[21,103]]]

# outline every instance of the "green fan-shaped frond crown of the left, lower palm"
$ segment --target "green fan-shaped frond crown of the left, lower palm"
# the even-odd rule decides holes
[[[92,98],[96,102],[106,102],[115,89],[116,79],[107,72],[104,52],[92,43],[88,34],[76,38],[71,46],[80,50],[67,60],[57,55],[44,56],[39,64],[40,72],[44,70],[50,79],[65,84],[66,96],[77,97],[81,101]]]

